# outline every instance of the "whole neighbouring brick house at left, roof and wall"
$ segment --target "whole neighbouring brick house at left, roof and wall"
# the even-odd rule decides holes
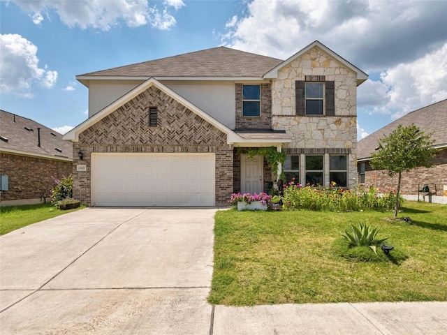
[[[0,205],[50,201],[53,178],[71,174],[72,153],[56,131],[0,110]]]

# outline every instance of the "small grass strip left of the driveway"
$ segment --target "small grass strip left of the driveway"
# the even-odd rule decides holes
[[[80,208],[82,207],[61,211],[51,203],[1,207],[0,235],[7,234],[26,225],[46,220],[47,218],[54,218],[55,216],[70,213],[71,211],[77,211]]]

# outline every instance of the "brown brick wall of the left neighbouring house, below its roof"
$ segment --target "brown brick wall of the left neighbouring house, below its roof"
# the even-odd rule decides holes
[[[1,153],[0,174],[9,179],[9,190],[1,192],[1,201],[36,199],[43,193],[49,198],[53,177],[68,177],[71,169],[71,162]]]

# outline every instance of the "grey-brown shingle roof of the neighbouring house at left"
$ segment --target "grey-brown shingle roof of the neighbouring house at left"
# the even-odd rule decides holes
[[[41,147],[37,145],[37,128],[41,128]],[[73,144],[62,140],[62,135],[57,131],[4,110],[0,110],[0,136],[8,139],[8,142],[0,140],[1,149],[26,151],[30,155],[40,154],[73,159]]]

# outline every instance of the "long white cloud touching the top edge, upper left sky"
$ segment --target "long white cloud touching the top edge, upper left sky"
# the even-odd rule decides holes
[[[50,17],[57,13],[61,22],[68,27],[88,27],[108,30],[124,22],[128,27],[138,27],[151,24],[157,29],[170,29],[176,23],[172,11],[184,6],[182,0],[166,0],[163,10],[156,6],[149,7],[147,0],[78,0],[78,1],[22,1],[15,0],[20,8],[31,13],[35,24],[44,20],[42,13]]]

